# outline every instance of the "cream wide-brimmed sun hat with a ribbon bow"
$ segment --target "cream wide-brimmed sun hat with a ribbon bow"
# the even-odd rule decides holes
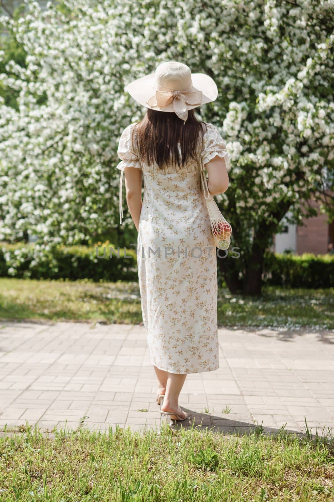
[[[125,90],[138,103],[152,110],[175,112],[186,122],[188,110],[215,101],[217,85],[205,73],[192,73],[189,66],[167,61],[155,73],[137,78]]]

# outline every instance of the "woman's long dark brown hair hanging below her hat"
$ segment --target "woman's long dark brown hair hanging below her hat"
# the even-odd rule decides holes
[[[159,168],[163,169],[170,162],[178,164],[180,168],[191,159],[196,160],[199,154],[198,146],[202,145],[204,129],[207,130],[206,123],[197,120],[194,108],[188,110],[185,124],[174,112],[147,108],[143,119],[135,124],[133,131],[136,131],[136,148],[140,158],[149,166],[155,161]]]

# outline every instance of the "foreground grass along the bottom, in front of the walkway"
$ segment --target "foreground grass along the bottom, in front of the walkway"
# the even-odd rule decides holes
[[[0,501],[321,502],[334,498],[334,443],[284,429],[85,427],[0,437]]]

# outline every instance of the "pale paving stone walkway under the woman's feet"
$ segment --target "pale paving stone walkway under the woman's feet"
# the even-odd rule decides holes
[[[220,368],[187,376],[183,426],[305,433],[306,417],[313,434],[334,433],[334,332],[220,329],[219,341]],[[143,326],[0,321],[0,430],[84,417],[94,429],[159,428],[155,394]]]

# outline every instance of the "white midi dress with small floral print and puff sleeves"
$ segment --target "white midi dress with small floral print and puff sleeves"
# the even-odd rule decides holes
[[[140,169],[144,192],[137,237],[141,313],[150,360],[157,368],[187,374],[219,368],[216,246],[201,186],[201,165],[172,163],[163,170],[138,158],[124,129],[117,155],[122,176]],[[134,132],[135,135],[135,132]],[[217,128],[207,123],[201,152],[205,165],[230,156]],[[179,151],[181,154],[180,144]]]

